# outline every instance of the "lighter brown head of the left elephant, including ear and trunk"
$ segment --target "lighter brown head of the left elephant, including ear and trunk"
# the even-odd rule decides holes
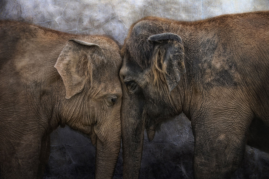
[[[111,39],[85,41],[71,39],[55,64],[66,92],[59,115],[61,125],[88,134],[96,145],[95,178],[112,178],[121,143],[122,61]]]

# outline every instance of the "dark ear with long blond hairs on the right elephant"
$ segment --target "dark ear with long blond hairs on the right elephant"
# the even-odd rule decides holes
[[[148,46],[153,49],[151,70],[154,83],[158,84],[160,76],[157,75],[157,72],[161,72],[170,94],[172,89],[178,85],[180,76],[186,72],[182,39],[172,33],[152,35],[148,38]]]

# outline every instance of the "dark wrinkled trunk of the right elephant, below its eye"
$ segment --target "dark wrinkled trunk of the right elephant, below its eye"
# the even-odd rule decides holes
[[[123,97],[121,109],[123,178],[138,178],[141,165],[144,120],[142,108]]]

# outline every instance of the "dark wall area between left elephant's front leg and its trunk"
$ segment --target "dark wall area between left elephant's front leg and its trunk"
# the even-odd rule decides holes
[[[58,127],[51,133],[51,153],[44,178],[94,178],[95,147],[90,138]]]

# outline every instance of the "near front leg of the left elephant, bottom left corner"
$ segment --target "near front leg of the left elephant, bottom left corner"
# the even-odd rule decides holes
[[[1,178],[36,178],[41,140],[37,135],[5,136],[1,146]],[[2,145],[2,144],[1,144]],[[3,148],[2,148],[3,147]]]

